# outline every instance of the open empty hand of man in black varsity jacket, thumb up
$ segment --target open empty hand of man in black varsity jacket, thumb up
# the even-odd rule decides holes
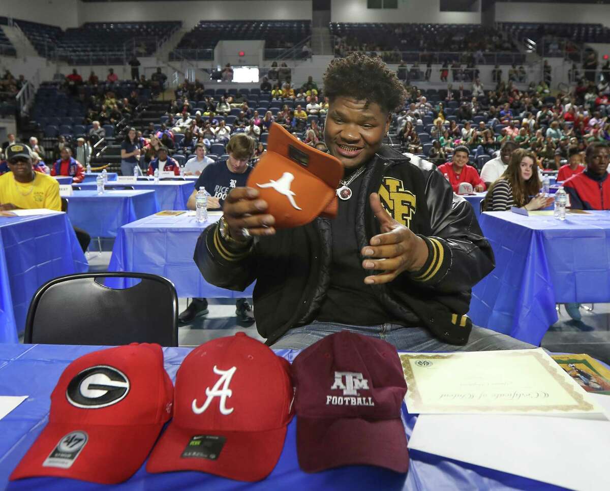
[[[367,285],[389,283],[403,271],[418,271],[428,259],[428,246],[423,238],[398,223],[381,206],[379,195],[370,195],[370,205],[381,226],[381,234],[370,240],[370,245],[362,249],[365,270],[381,270],[382,273],[367,276]],[[379,259],[368,259],[379,258]]]

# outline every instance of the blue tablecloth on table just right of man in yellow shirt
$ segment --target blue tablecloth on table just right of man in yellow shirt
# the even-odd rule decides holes
[[[74,191],[68,196],[68,215],[75,227],[91,237],[117,237],[121,225],[159,211],[155,193],[150,190]]]

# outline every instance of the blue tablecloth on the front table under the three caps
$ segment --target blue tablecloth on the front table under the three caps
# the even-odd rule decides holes
[[[0,393],[2,395],[28,395],[15,410],[0,420],[0,489],[34,443],[48,422],[49,396],[62,371],[79,356],[102,349],[99,346],[59,345],[0,345]],[[189,348],[164,348],[165,370],[175,381],[176,371],[189,353]],[[298,352],[276,351],[292,361]],[[449,416],[448,416],[449,417]],[[403,425],[407,438],[411,437],[417,415],[408,414],[403,403]],[[109,434],[109,438],[120,435]],[[362,442],[366,445],[367,442]],[[468,445],[456,442],[456,445]],[[498,442],[501,445],[501,442]],[[485,467],[451,461],[432,454],[409,451],[409,472],[393,471],[370,466],[350,466],[307,474],[300,470],[296,459],[296,418],[288,427],[284,450],[275,469],[260,482],[239,482],[194,471],[165,474],[148,474],[143,465],[131,479],[121,484],[125,490],[169,489],[258,489],[258,490],[514,490],[536,491],[560,488],[543,482],[498,472]],[[601,456],[600,458],[603,458]],[[586,466],[578,471],[586,472]],[[99,490],[107,486],[83,481],[57,478],[30,478],[11,481],[8,487],[16,489]]]

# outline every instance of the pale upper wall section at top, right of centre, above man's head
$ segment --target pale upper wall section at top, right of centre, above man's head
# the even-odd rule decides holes
[[[439,0],[398,0],[398,9],[367,9],[367,0],[331,0],[331,22],[479,24],[481,9],[440,12]]]

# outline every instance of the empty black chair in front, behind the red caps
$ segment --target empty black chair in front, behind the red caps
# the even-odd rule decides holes
[[[125,289],[100,281],[139,279]],[[148,273],[83,273],[52,279],[35,293],[24,343],[178,346],[178,295],[174,284]]]

